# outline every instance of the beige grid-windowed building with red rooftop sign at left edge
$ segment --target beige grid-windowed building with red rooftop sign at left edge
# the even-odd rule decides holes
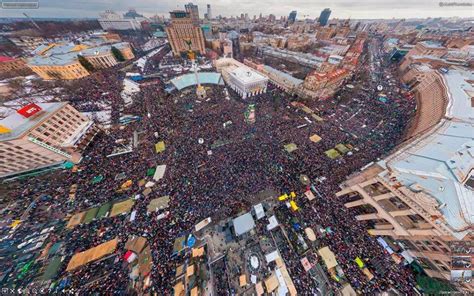
[[[0,177],[77,163],[98,130],[66,102],[28,104],[0,120]]]

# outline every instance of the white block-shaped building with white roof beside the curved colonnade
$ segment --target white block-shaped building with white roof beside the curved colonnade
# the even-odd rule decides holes
[[[268,77],[252,68],[230,58],[218,59],[215,67],[222,74],[224,81],[243,99],[267,91]]]

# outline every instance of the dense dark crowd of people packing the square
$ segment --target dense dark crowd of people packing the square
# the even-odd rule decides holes
[[[151,62],[159,62],[163,54]],[[152,70],[156,71],[156,65],[145,67],[145,72]],[[49,211],[62,217],[112,200],[136,199],[133,222],[117,216],[59,233],[56,239],[67,244],[67,258],[113,237],[120,238],[120,253],[128,237],[144,236],[153,257],[150,289],[158,295],[169,295],[176,267],[174,259],[170,259],[174,239],[192,231],[197,222],[207,217],[218,221],[248,210],[252,205],[249,197],[272,188],[282,193],[294,191],[301,197],[302,210],[295,215],[302,223],[314,229],[318,225],[332,229],[332,234],[321,240],[334,251],[356,290],[371,294],[394,287],[409,293],[414,285],[409,271],[391,261],[364,225],[355,220],[354,213],[343,206],[343,200],[335,197],[335,192],[348,174],[388,153],[399,142],[412,115],[412,102],[394,94],[392,102],[382,103],[374,99],[373,93],[364,91],[344,102],[305,102],[324,121],[298,128],[308,123],[304,118],[307,114],[290,104],[295,98],[272,84],[267,93],[247,100],[230,89],[230,99],[226,99],[223,86],[206,87],[208,99],[199,100],[194,88],[169,95],[164,92],[163,82],[157,81],[143,86],[133,104],[125,107],[120,97],[123,76],[116,69],[96,73],[81,80],[65,96],[80,111],[94,111],[91,102],[97,101],[112,108],[112,128],[97,135],[84,152],[79,170],[38,177],[38,182],[23,181],[11,190],[13,199],[25,202],[39,195],[51,196]],[[255,123],[248,123],[245,117],[249,104],[255,104]],[[141,120],[120,125],[119,118],[124,114],[140,116]],[[119,140],[133,138],[134,131],[139,134],[138,145],[131,153],[106,157]],[[313,134],[322,140],[312,142],[309,137]],[[165,142],[162,153],[155,151],[158,141]],[[288,153],[283,146],[289,143],[295,143],[298,149]],[[352,155],[327,157],[324,152],[340,143],[354,147]],[[144,196],[138,181],[146,178],[147,169],[161,164],[167,166],[164,178],[150,195]],[[124,182],[116,178],[121,173],[133,181],[125,192],[117,191]],[[307,187],[300,182],[300,175],[308,176],[317,187],[317,200],[302,198]],[[96,176],[102,176],[103,181],[93,184],[91,180]],[[315,181],[321,177],[325,180]],[[76,198],[68,201],[72,184],[78,184]],[[159,213],[147,213],[146,206],[151,199],[164,195],[171,197],[170,214],[158,221]],[[285,207],[279,210],[290,215]],[[37,217],[32,215],[30,219]],[[367,258],[369,264],[377,260],[383,265],[383,275],[374,270],[375,278],[368,281],[351,262],[357,256]],[[311,293],[312,279],[303,270],[298,255],[285,252],[284,259],[290,275],[297,279],[297,290],[302,295]],[[125,291],[127,269],[114,262],[110,267],[101,264],[105,263],[92,264],[72,274],[63,267],[60,276],[71,276],[66,289],[91,293]],[[104,274],[104,268],[111,269]],[[88,285],[91,279],[98,280]]]

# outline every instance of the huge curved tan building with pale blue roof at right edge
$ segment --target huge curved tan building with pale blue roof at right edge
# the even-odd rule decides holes
[[[417,136],[349,178],[337,195],[356,208],[370,234],[398,242],[427,275],[450,280],[453,244],[474,238],[474,75],[461,67],[413,75],[421,102]],[[460,285],[474,291],[473,283]]]

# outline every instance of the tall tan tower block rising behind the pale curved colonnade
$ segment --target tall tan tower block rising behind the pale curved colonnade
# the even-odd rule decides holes
[[[204,34],[191,15],[186,11],[175,10],[170,12],[170,16],[171,24],[166,27],[166,33],[173,54],[178,56],[188,50],[205,54]]]

